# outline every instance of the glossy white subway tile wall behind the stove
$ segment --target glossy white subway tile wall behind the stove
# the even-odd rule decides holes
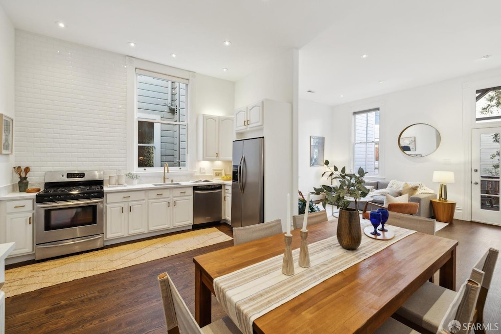
[[[126,166],[126,58],[16,30],[16,165],[47,171]]]

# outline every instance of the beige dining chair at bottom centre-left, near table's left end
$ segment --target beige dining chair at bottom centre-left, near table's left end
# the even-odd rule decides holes
[[[227,316],[200,328],[166,272],[158,275],[158,283],[162,294],[163,313],[168,334],[179,334],[179,328],[183,333],[189,334],[241,333]]]

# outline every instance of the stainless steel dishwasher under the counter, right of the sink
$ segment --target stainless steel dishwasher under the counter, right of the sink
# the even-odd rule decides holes
[[[201,224],[220,223],[222,186],[205,185],[193,187],[193,227]]]

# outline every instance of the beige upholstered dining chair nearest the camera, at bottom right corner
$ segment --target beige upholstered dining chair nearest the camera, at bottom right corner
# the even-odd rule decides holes
[[[473,316],[473,312],[475,310],[475,303],[478,299],[478,293],[480,290],[480,285],[483,279],[483,271],[474,269],[475,279],[479,280],[477,282],[473,279],[467,279],[459,288],[459,291],[450,301],[450,303],[444,304],[445,312],[437,315],[438,326],[437,330],[433,331],[433,333],[440,334],[448,334],[450,332],[466,334],[469,330],[465,330],[462,327],[463,323],[470,323],[471,317]],[[434,308],[428,308],[428,305],[422,304],[422,309],[429,313],[434,313]],[[454,328],[458,331],[452,331],[449,328],[449,323],[452,320],[457,320],[461,324],[461,328]],[[471,329],[471,327],[470,327]],[[407,333],[425,333],[428,331],[423,331],[422,328],[419,328],[419,331],[416,331],[414,328],[407,326],[406,324],[399,322],[394,318],[389,318],[386,320],[378,329],[374,331],[377,334],[407,334]]]

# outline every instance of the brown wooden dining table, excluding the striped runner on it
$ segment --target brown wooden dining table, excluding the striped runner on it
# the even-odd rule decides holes
[[[336,235],[336,226],[332,222],[309,226],[308,243]],[[293,249],[300,247],[299,232],[292,231]],[[439,284],[455,290],[457,244],[415,232],[262,315],[253,329],[256,333],[373,332],[437,270]],[[194,257],[199,325],[211,321],[215,278],[283,254],[284,247],[284,234],[277,234]]]

